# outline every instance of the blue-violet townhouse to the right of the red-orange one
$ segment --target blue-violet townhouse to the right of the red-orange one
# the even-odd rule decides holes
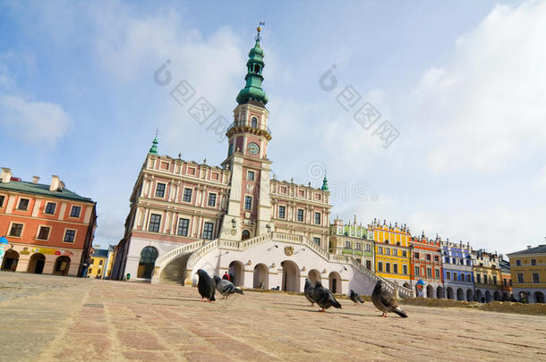
[[[473,258],[469,243],[440,241],[444,287],[438,298],[473,301]]]

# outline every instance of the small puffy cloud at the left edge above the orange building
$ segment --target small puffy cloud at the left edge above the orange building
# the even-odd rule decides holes
[[[46,142],[53,146],[71,123],[70,115],[60,105],[0,95],[0,124],[16,139],[27,143]]]

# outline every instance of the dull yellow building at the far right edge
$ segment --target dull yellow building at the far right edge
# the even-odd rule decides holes
[[[544,303],[546,244],[508,254],[514,296],[527,303]]]

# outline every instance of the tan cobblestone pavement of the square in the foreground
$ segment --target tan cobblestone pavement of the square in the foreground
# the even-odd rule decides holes
[[[192,287],[2,272],[0,360],[546,360],[546,316],[341,304],[318,313],[251,291],[201,303]]]

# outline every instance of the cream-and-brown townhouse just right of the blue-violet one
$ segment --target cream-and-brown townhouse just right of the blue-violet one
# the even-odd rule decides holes
[[[475,300],[502,300],[499,255],[479,249],[472,251],[472,258]]]

